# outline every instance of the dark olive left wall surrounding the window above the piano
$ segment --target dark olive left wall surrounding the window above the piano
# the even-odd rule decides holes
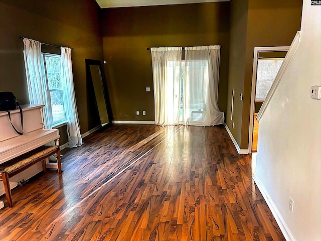
[[[20,36],[74,48],[73,74],[81,133],[96,127],[95,107],[88,104],[85,58],[102,60],[99,10],[93,0],[0,0],[0,91],[14,92],[21,104],[29,102]]]

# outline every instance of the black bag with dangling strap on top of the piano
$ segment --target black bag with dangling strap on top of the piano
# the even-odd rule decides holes
[[[13,110],[16,109],[16,107],[19,107],[20,109],[20,119],[21,119],[21,132],[19,132],[14,125],[11,122],[11,116],[10,116],[10,111],[9,110]],[[1,110],[6,110],[8,112],[9,115],[9,120],[11,123],[11,126],[14,128],[14,130],[19,134],[22,135],[23,134],[23,125],[24,125],[24,121],[23,121],[23,113],[22,113],[22,108],[20,107],[20,104],[16,98],[16,96],[14,95],[13,92],[10,91],[2,91],[0,92],[0,111]]]

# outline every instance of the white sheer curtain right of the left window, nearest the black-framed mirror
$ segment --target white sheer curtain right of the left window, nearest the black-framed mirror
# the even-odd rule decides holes
[[[72,74],[71,49],[61,47],[61,84],[63,89],[64,108],[67,117],[68,147],[78,147],[82,144],[79,129],[78,111]]]

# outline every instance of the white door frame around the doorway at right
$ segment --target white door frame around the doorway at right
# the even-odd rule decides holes
[[[251,107],[250,107],[250,126],[249,126],[249,154],[252,153],[253,142],[253,124],[255,112],[255,92],[256,92],[256,74],[257,74],[257,61],[260,52],[283,52],[288,51],[290,46],[271,46],[271,47],[254,47],[253,57],[253,71],[252,71],[252,90],[251,90]]]

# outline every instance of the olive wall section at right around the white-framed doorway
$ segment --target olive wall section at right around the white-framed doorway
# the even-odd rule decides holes
[[[247,2],[247,1],[245,1]],[[250,121],[250,99],[252,85],[252,68],[254,47],[262,46],[288,46],[291,44],[296,31],[300,29],[302,0],[271,0],[256,1],[248,0],[247,26],[240,25],[238,18],[240,13],[233,11],[233,8],[242,8],[239,1],[231,1],[231,47],[230,47],[230,72],[228,89],[227,125],[241,149],[248,148],[249,121]],[[237,28],[238,32],[233,32]],[[243,32],[243,36],[239,35]],[[244,44],[244,35],[246,43]],[[233,39],[240,38],[241,41],[233,47]],[[242,41],[243,40],[243,41]],[[243,47],[242,47],[243,46]],[[245,52],[244,52],[245,50]],[[244,75],[240,69],[237,74],[234,67],[238,59],[234,55],[240,55],[240,68],[244,68]],[[244,57],[242,57],[244,55]],[[245,59],[245,62],[243,62]],[[234,130],[230,116],[232,98],[231,89],[235,90],[234,95]],[[240,93],[243,93],[243,101],[240,100]]]

